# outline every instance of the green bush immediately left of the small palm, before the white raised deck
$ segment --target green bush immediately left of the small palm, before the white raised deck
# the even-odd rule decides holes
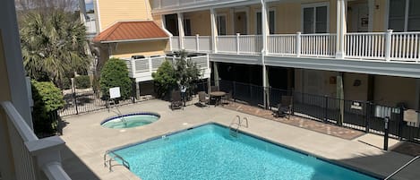
[[[172,64],[168,61],[160,64],[156,73],[151,73],[155,84],[155,90],[159,98],[163,98],[167,93],[176,87],[176,72]]]

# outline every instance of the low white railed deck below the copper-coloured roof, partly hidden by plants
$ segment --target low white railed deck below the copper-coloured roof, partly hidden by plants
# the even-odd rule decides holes
[[[190,55],[193,63],[197,64],[202,71],[202,79],[210,77],[210,63],[207,55]],[[136,81],[151,81],[151,73],[158,70],[160,64],[169,61],[174,64],[179,57],[176,56],[150,56],[141,59],[125,58],[123,59],[128,67],[129,76]]]

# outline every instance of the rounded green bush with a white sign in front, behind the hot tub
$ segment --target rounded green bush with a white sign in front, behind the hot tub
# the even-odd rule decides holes
[[[99,87],[103,99],[109,99],[109,88],[120,87],[121,99],[132,95],[132,81],[128,77],[127,65],[118,58],[107,60],[100,71]]]

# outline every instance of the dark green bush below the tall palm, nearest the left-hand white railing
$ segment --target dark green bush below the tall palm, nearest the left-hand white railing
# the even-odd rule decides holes
[[[50,81],[31,81],[34,107],[32,120],[35,133],[52,134],[56,132],[56,119],[51,118],[54,111],[64,107],[64,97],[60,89]],[[41,135],[44,136],[44,135]]]

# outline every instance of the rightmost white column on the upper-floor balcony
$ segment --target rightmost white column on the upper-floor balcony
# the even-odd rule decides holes
[[[337,52],[336,57],[343,59],[346,56],[345,52],[345,35],[347,33],[346,26],[346,9],[347,0],[337,0]]]

